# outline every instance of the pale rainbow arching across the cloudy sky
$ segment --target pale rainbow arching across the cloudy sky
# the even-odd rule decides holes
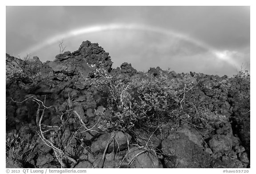
[[[72,31],[68,31],[66,33],[60,34],[53,36],[49,39],[46,39],[44,42],[33,46],[29,48],[28,50],[24,51],[24,53],[21,53],[20,55],[25,55],[27,53],[34,53],[38,50],[41,50],[45,46],[49,46],[52,44],[55,44],[59,42],[62,39],[68,39],[72,38],[74,36],[78,35],[83,35],[83,34],[89,34],[89,33],[96,33],[96,32],[101,32],[101,31],[114,31],[114,30],[128,30],[128,31],[149,31],[149,32],[155,32],[155,33],[160,33],[163,35],[169,35],[178,39],[182,39],[184,41],[191,42],[195,44],[196,46],[200,46],[206,50],[208,50],[210,53],[212,53],[213,56],[218,58],[219,60],[222,60],[224,62],[228,62],[228,64],[238,67],[239,63],[236,62],[235,60],[232,59],[232,55],[228,54],[227,50],[220,51],[217,50],[216,48],[208,45],[207,43],[204,43],[198,39],[194,39],[190,37],[189,35],[185,35],[176,31],[171,31],[169,29],[164,29],[160,27],[152,27],[152,26],[147,26],[147,25],[142,25],[142,24],[136,24],[136,23],[112,23],[108,25],[95,25],[95,26],[87,26],[87,27],[82,27],[78,29],[74,29]]]

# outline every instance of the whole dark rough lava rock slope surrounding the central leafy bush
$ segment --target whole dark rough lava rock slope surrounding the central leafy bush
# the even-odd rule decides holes
[[[89,41],[83,42],[78,50],[58,54],[54,61],[45,63],[36,56],[21,60],[6,54],[6,141],[11,147],[22,147],[13,152],[7,146],[6,154],[15,156],[14,159],[8,157],[7,168],[61,167],[52,148],[38,135],[42,115],[42,129],[48,130],[44,132],[45,138],[77,162],[64,159],[68,167],[76,164],[85,168],[92,165],[117,168],[122,162],[120,167],[125,168],[132,157],[144,149],[148,151],[137,156],[131,167],[250,167],[250,85],[241,77],[195,72],[177,74],[160,67],[142,73],[127,62],[114,70],[111,67],[108,53]],[[194,87],[186,93],[184,101],[194,97],[196,101],[190,102],[198,103],[196,107],[209,112],[195,110],[196,119],[179,117],[173,122],[154,123],[156,125],[152,120],[145,121],[150,126],[162,126],[157,129],[136,125],[134,131],[105,130],[104,127],[119,117],[113,113],[116,108],[107,107],[109,96],[88,81],[99,68],[124,84],[131,77],[157,78],[161,73],[168,73],[169,80],[189,81]],[[40,101],[36,103],[36,99],[44,102],[44,112],[44,106]],[[180,101],[177,102],[180,107]],[[115,139],[103,158],[112,137]],[[127,142],[141,148],[131,147],[127,157]]]

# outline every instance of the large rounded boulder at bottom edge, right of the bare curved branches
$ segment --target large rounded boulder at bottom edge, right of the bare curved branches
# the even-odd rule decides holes
[[[192,141],[191,141],[191,140]],[[167,168],[208,168],[210,155],[203,151],[200,136],[187,128],[171,131],[162,142],[162,151]],[[199,145],[198,145],[199,144]]]

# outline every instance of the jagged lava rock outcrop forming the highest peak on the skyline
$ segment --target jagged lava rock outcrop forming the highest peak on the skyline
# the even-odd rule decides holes
[[[112,70],[112,61],[108,53],[97,43],[83,42],[79,49],[70,53],[56,55],[56,60],[46,64],[52,68],[54,73],[59,73],[61,80],[63,74],[68,76],[87,77],[91,68],[104,68],[108,72]]]

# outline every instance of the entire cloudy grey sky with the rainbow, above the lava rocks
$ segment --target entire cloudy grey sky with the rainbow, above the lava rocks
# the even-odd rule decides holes
[[[231,76],[250,70],[248,6],[7,6],[6,53],[54,60],[99,43],[113,67],[170,68]]]

